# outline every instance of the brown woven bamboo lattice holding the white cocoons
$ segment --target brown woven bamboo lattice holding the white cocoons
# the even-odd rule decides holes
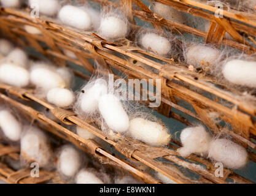
[[[190,0],[157,0],[157,2],[171,6],[174,9],[211,21],[208,32],[204,32],[186,25],[166,20],[160,15],[153,13],[140,0],[123,0],[120,1],[122,4],[116,4],[115,2],[105,0],[94,1],[101,4],[101,6],[111,5],[114,7],[120,7],[121,9],[124,7],[126,16],[130,20],[131,26],[134,29],[139,29],[133,20],[134,17],[138,17],[141,20],[152,23],[153,27],[158,31],[165,27],[169,31],[178,31],[181,33],[188,32],[190,34],[203,37],[206,43],[213,43],[217,45],[217,47],[227,45],[249,54],[254,53],[256,50],[254,45],[255,42],[251,45],[248,42],[248,39],[254,40],[253,37],[256,36],[256,15],[250,13],[239,12],[237,10],[224,10],[224,18],[215,18],[214,12],[216,9],[211,5]],[[136,9],[133,9],[134,5],[136,5]],[[215,81],[214,77],[211,75],[189,72],[187,70],[187,65],[177,64],[173,58],[168,59],[163,58],[162,56],[152,55],[152,53],[147,53],[147,51],[134,46],[130,40],[125,39],[117,43],[112,43],[108,40],[102,39],[94,32],[85,32],[68,28],[57,23],[51,18],[31,18],[30,10],[28,9],[16,10],[1,8],[0,23],[2,34],[5,37],[9,37],[10,40],[20,46],[33,47],[59,66],[66,66],[69,61],[77,64],[77,66],[82,66],[90,72],[90,74],[106,74],[101,72],[101,70],[96,70],[90,61],[88,61],[88,59],[96,59],[104,68],[108,69],[109,72],[112,73],[114,69],[117,69],[125,73],[127,78],[144,78],[146,80],[161,79],[161,105],[157,108],[159,113],[169,118],[177,119],[187,126],[191,124],[187,119],[187,116],[190,116],[208,126],[215,134],[223,132],[231,135],[233,140],[241,143],[244,147],[247,147],[247,151],[249,151],[250,154],[250,160],[256,162],[256,156],[252,150],[256,149],[256,145],[250,140],[250,138],[255,138],[256,136],[255,99],[246,100],[242,96],[241,92],[231,89],[225,85],[221,85],[222,88],[215,87],[212,84],[220,84]],[[30,25],[40,29],[42,35],[28,34],[28,32],[24,30],[24,25]],[[232,40],[224,38],[226,31],[233,37]],[[246,34],[247,37],[244,38],[241,34]],[[42,42],[46,43],[47,47],[42,47]],[[68,49],[74,52],[77,59],[72,59],[63,55],[63,49]],[[118,55],[114,55],[112,51],[115,51]],[[142,67],[138,67],[136,64],[129,62],[127,57],[143,62],[156,71],[151,72]],[[152,60],[152,58],[157,59],[157,61]],[[89,80],[90,78],[89,75],[82,74],[77,70],[74,70],[74,73],[77,77],[84,78],[85,80]],[[179,81],[179,83],[177,83],[177,81]],[[215,96],[215,99],[210,99],[196,91],[192,91],[192,89],[187,87],[188,85],[195,86],[198,89],[212,94],[212,96]],[[113,145],[117,151],[126,157],[142,162],[153,170],[173,179],[176,183],[195,182],[190,181],[187,178],[183,178],[175,171],[170,170],[160,160],[157,160],[157,158],[162,157],[163,159],[174,162],[177,165],[182,165],[182,167],[193,171],[200,176],[198,183],[227,183],[227,179],[233,179],[238,183],[251,183],[249,180],[239,176],[234,171],[228,170],[227,168],[224,169],[223,178],[216,177],[214,175],[214,164],[202,157],[191,155],[187,160],[181,159],[179,154],[176,153],[177,146],[180,146],[180,143],[176,140],[172,140],[172,142],[169,143],[169,148],[148,146],[139,141],[134,141],[131,138],[124,139],[120,137],[117,140],[116,138],[111,138],[104,134],[104,132],[95,126],[92,126],[90,119],[88,119],[88,121],[84,121],[70,110],[57,108],[52,104],[48,104],[46,100],[39,99],[39,97],[35,96],[33,93],[33,89],[14,88],[4,84],[0,84],[0,89],[2,89],[3,93],[5,91],[9,94],[18,96],[21,99],[31,100],[43,105],[45,108],[52,111],[53,115],[63,123],[76,124],[87,129],[97,137]],[[177,98],[192,105],[194,110],[188,110],[182,105],[178,105]],[[1,94],[1,99],[6,100],[9,104],[19,105],[16,101],[10,99],[5,94]],[[231,107],[223,105],[220,100],[229,102]],[[49,121],[44,115],[42,115],[42,113],[32,110],[25,105],[19,105],[18,108],[28,112],[36,119],[40,119],[48,124],[54,124],[53,121]],[[174,112],[172,108],[182,111],[185,115],[179,115],[179,113]],[[218,113],[219,118],[230,124],[231,129],[214,123],[214,121],[208,117],[208,113],[210,112]],[[111,156],[100,146],[95,143],[91,143],[92,141],[85,141],[76,134],[68,134],[68,130],[64,129],[60,125],[55,128],[59,128],[60,132],[64,133],[64,135],[66,135],[66,139],[69,141],[77,143],[78,146],[86,146],[86,149],[90,149],[94,154],[103,154],[126,170],[144,179],[145,182],[158,183],[158,181],[153,179],[152,176],[143,173],[135,167],[131,167],[131,165],[126,164],[124,161],[120,161],[121,159]],[[202,164],[204,167],[198,167],[198,164]]]

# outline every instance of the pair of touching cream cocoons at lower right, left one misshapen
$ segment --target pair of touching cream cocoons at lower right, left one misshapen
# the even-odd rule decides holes
[[[213,139],[203,126],[182,130],[180,140],[182,148],[177,149],[177,152],[182,157],[200,154],[231,169],[244,167],[248,160],[246,149],[225,138]]]

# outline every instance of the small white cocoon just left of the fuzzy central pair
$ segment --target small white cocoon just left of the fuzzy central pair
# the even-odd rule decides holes
[[[52,88],[47,93],[47,100],[58,107],[69,107],[74,102],[74,93],[69,89]]]

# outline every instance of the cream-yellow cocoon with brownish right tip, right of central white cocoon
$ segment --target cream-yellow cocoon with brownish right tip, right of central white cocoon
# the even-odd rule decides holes
[[[144,118],[134,118],[130,121],[129,134],[153,146],[168,145],[171,140],[171,135],[163,125]]]

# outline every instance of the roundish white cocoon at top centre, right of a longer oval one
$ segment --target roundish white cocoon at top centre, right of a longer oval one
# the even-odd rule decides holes
[[[114,16],[101,18],[101,25],[99,26],[99,34],[104,39],[120,39],[124,38],[128,33],[128,24]]]

